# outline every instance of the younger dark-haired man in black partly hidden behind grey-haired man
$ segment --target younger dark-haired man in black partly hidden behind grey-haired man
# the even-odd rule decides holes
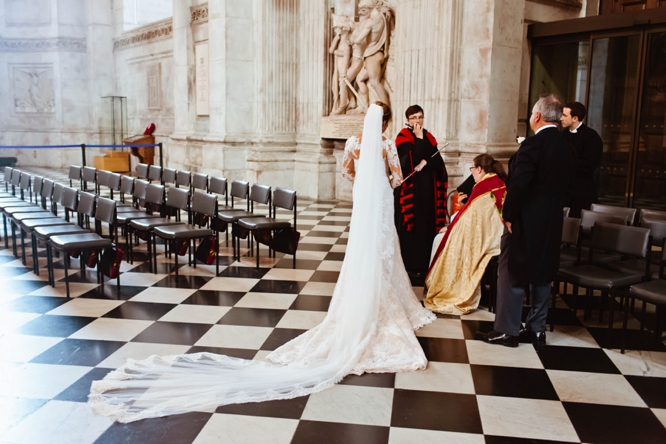
[[[604,151],[599,134],[583,123],[587,114],[585,105],[570,102],[562,110],[562,136],[576,153],[576,173],[567,190],[564,206],[569,207],[570,217],[580,217],[580,210],[589,210],[598,202],[594,171],[599,168]]]

